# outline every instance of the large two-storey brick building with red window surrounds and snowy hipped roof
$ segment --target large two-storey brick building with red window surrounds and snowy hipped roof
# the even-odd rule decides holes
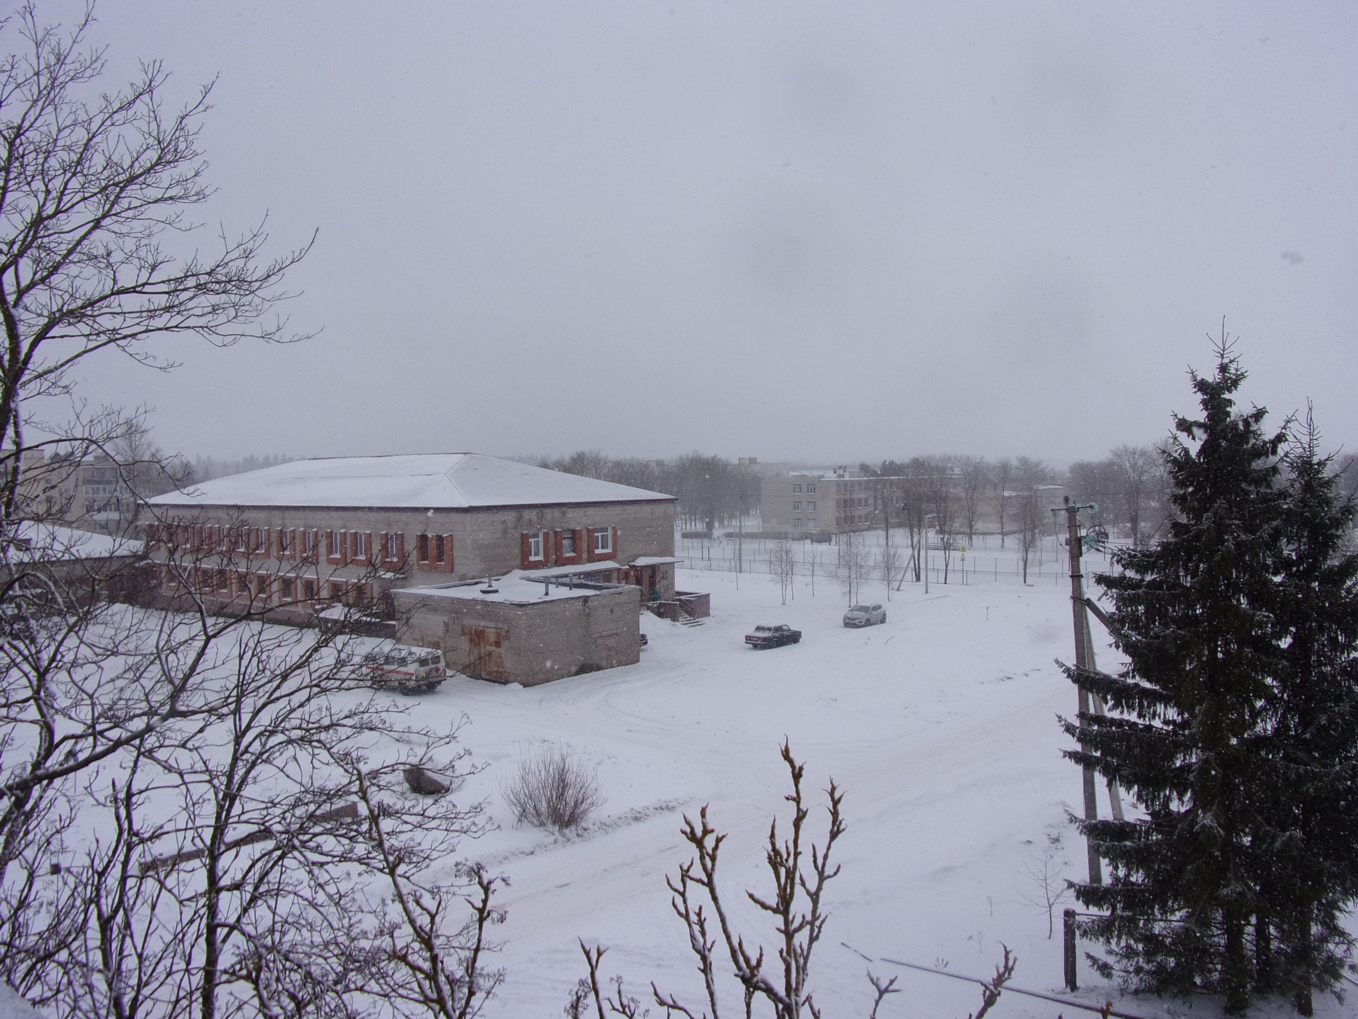
[[[330,602],[390,611],[394,590],[513,569],[674,598],[674,496],[478,454],[296,461],[148,504],[167,594],[189,583],[299,622]]]

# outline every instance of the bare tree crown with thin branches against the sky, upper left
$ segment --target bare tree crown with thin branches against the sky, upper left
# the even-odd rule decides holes
[[[86,43],[92,22],[91,7],[69,30],[43,24],[34,3],[0,22],[0,530],[26,455],[88,437],[76,421],[33,439],[35,401],[69,394],[75,365],[102,351],[170,367],[151,337],[288,338],[266,315],[306,253],[266,258],[259,226],[177,255],[190,211],[212,196],[198,148],[210,86],[167,109],[168,72],[148,62],[110,90],[103,52]]]

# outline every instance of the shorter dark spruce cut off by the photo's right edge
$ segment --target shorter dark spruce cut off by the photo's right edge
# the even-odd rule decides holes
[[[1275,615],[1279,671],[1262,749],[1255,965],[1264,989],[1312,1014],[1312,988],[1334,986],[1353,939],[1340,925],[1358,895],[1358,554],[1354,507],[1319,452],[1308,413],[1286,455],[1287,512]]]

